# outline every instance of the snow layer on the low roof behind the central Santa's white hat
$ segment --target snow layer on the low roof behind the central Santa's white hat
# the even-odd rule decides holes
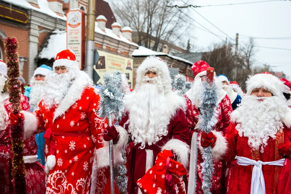
[[[191,62],[191,61],[188,61],[186,59],[182,59],[180,57],[176,57],[176,56],[173,56],[173,55],[169,55],[169,54],[166,54],[164,52],[156,52],[156,51],[153,51],[151,49],[148,49],[146,47],[143,47],[143,46],[139,46],[138,49],[135,49],[133,52],[132,52],[132,56],[134,57],[137,57],[137,56],[150,56],[150,55],[156,55],[156,56],[168,56],[172,59],[176,59],[178,61],[182,61],[182,62],[185,62],[185,63],[189,63],[190,65],[193,65],[194,63]]]

